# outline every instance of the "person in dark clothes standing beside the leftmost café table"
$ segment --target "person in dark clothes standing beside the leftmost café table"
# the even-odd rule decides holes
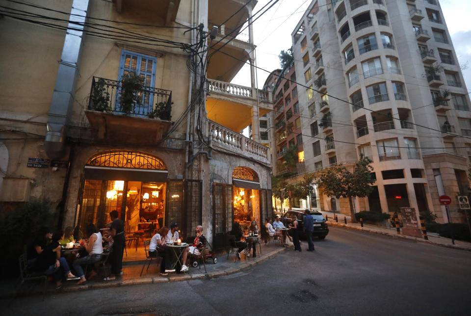
[[[114,241],[113,250],[110,254],[111,274],[114,274],[114,276],[105,278],[106,281],[115,280],[116,276],[122,273],[121,269],[123,266],[123,252],[126,238],[124,236],[124,222],[122,219],[118,218],[118,216],[119,213],[116,210],[109,212],[109,217],[112,221],[109,233]]]

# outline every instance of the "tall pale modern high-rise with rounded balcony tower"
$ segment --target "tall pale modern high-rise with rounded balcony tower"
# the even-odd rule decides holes
[[[364,154],[376,182],[355,211],[413,207],[462,221],[470,99],[438,0],[314,0],[292,43],[306,172],[353,168]],[[350,213],[346,199],[320,201]]]

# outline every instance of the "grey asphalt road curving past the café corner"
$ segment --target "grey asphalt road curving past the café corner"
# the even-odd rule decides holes
[[[471,252],[344,228],[314,246],[210,280],[2,300],[0,314],[470,315]]]

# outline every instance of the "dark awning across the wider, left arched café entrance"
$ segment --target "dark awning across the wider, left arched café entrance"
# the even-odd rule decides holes
[[[168,170],[85,166],[87,180],[167,182]]]

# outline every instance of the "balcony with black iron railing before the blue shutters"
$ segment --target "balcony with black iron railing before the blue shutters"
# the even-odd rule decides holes
[[[97,139],[126,139],[133,143],[162,139],[172,125],[172,91],[142,86],[140,90],[127,92],[133,100],[122,101],[121,80],[92,78],[85,115]]]

